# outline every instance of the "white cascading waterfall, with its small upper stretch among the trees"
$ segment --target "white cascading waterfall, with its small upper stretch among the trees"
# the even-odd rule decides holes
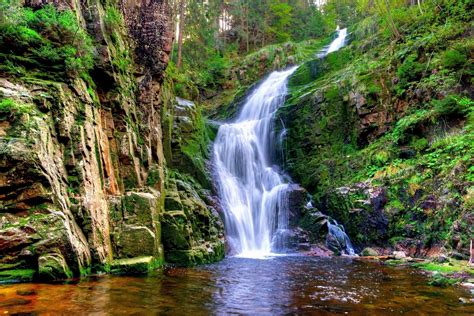
[[[338,31],[322,55],[344,46],[346,34],[346,29]],[[296,69],[271,73],[247,98],[237,119],[221,125],[217,133],[214,158],[226,235],[233,252],[242,257],[283,250],[289,184],[272,164],[273,118]]]

